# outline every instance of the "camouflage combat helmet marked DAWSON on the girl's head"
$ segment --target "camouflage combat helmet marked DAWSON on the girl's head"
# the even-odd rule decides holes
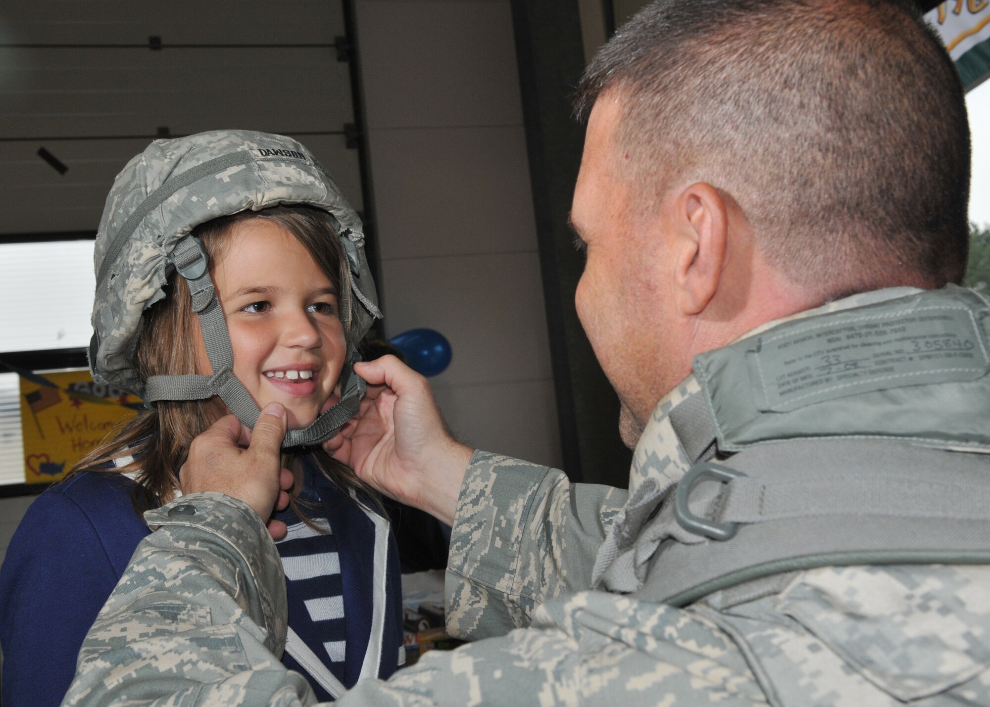
[[[234,353],[207,253],[190,232],[220,216],[278,204],[307,204],[331,215],[347,261],[341,268],[340,309],[350,332],[341,401],[307,428],[289,431],[282,446],[313,445],[336,434],[357,412],[366,387],[353,373],[359,360],[355,344],[381,313],[360,219],[312,154],[278,135],[224,130],[156,140],[117,175],[93,256],[96,299],[87,352],[93,378],[148,404],[219,395],[253,428],[260,411],[234,375]],[[165,283],[174,271],[189,285],[213,373],[144,380],[136,367],[142,314],[165,297]]]

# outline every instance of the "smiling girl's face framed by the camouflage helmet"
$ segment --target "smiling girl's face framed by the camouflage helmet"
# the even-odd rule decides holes
[[[234,225],[213,281],[234,349],[234,374],[259,408],[277,401],[289,429],[316,420],[347,352],[338,292],[309,251],[265,219]],[[210,370],[200,343],[199,365]]]

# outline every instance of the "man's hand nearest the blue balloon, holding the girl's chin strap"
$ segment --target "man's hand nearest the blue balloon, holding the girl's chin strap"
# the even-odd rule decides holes
[[[472,450],[450,435],[430,385],[393,355],[354,364],[360,412],[324,449],[373,488],[453,524]]]

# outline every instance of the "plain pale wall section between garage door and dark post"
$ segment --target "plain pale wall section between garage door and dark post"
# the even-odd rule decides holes
[[[430,327],[465,443],[558,466],[509,2],[357,0],[387,336]]]

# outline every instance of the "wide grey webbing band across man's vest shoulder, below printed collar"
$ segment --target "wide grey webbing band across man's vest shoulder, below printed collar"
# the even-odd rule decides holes
[[[683,606],[796,569],[846,564],[990,563],[990,454],[903,442],[797,440],[720,461],[731,481],[699,480],[691,512],[737,523],[726,540],[674,540],[664,504],[648,532],[665,540],[636,596]],[[671,537],[673,536],[673,537]]]

